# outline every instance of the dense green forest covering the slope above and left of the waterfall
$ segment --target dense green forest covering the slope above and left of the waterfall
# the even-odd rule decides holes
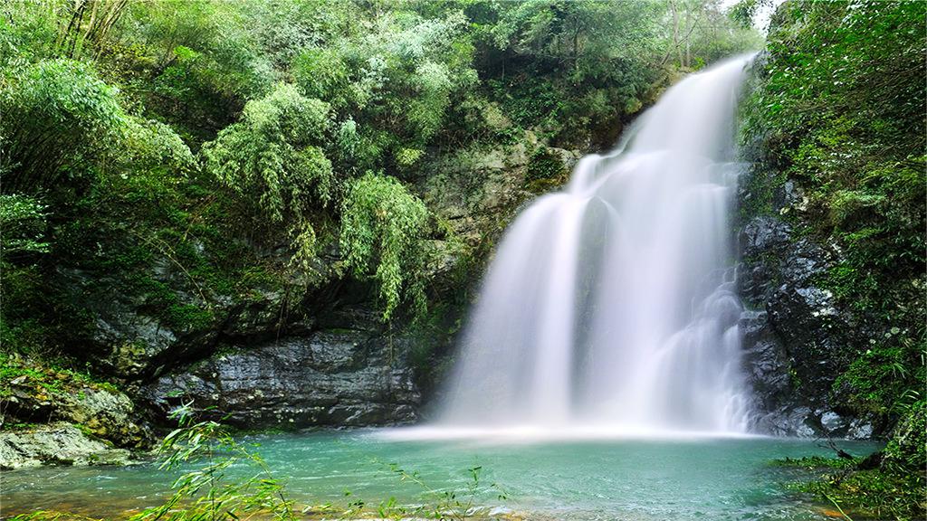
[[[228,293],[283,241],[304,281],[334,241],[385,318],[422,309],[442,232],[411,183],[442,150],[608,146],[676,71],[757,44],[703,1],[9,3],[4,336],[81,330],[40,288],[62,261],[127,273],[156,251]],[[171,322],[209,313],[125,283]]]

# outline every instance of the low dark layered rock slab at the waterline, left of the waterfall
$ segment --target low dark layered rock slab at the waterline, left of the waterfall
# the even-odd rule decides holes
[[[231,347],[146,389],[167,410],[178,400],[246,428],[371,426],[415,419],[413,372],[386,338],[320,330],[256,346]]]

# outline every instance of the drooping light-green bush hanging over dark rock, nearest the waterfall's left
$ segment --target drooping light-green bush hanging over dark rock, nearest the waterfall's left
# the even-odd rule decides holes
[[[425,310],[423,252],[428,210],[392,177],[368,172],[351,185],[342,207],[340,246],[345,265],[357,276],[371,267],[388,320],[401,299]]]

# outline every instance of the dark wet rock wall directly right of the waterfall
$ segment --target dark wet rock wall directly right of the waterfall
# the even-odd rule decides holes
[[[770,192],[766,205],[757,200]],[[789,222],[804,204],[794,182],[777,183],[755,165],[742,176],[738,285],[747,374],[760,432],[779,436],[870,438],[865,418],[831,410],[847,345],[865,337],[821,279],[840,252],[799,236]]]

